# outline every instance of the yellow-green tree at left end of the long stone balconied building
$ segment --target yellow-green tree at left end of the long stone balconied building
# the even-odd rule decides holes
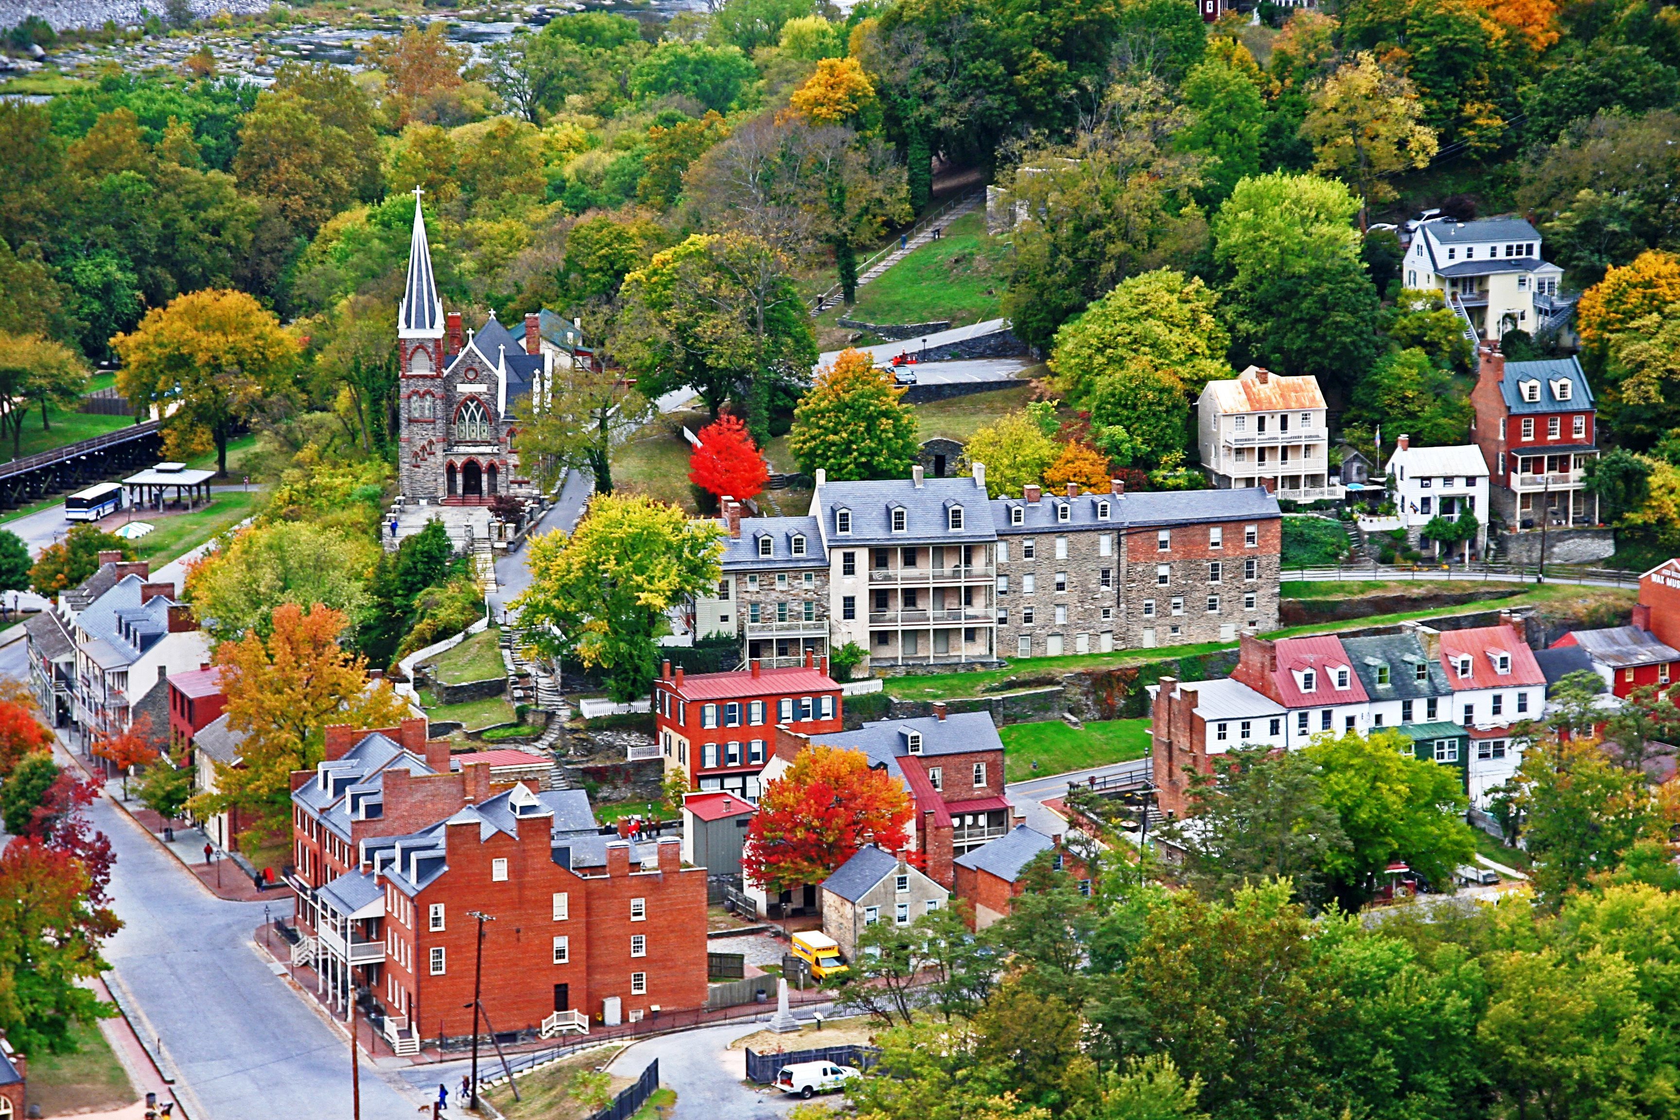
[[[531,541],[531,586],[509,606],[533,645],[603,670],[613,699],[628,704],[654,683],[665,611],[716,583],[721,536],[640,494],[598,495],[570,537]]]

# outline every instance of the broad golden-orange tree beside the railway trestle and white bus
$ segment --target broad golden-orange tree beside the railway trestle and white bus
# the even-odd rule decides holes
[[[227,475],[234,427],[272,396],[292,391],[297,339],[245,292],[207,289],[153,307],[113,344],[123,356],[118,388],[138,408],[158,406],[171,423],[193,423],[215,440]]]

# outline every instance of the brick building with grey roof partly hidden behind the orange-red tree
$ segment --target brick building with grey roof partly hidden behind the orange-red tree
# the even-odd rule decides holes
[[[875,767],[904,782],[911,796],[909,850],[941,887],[954,882],[953,860],[1006,835],[1013,811],[1003,798],[1003,739],[990,712],[946,714],[864,724],[838,734],[776,737],[776,764],[764,781],[786,769],[806,746],[862,751]],[[815,885],[810,888],[815,892]],[[815,905],[815,893],[811,902]]]

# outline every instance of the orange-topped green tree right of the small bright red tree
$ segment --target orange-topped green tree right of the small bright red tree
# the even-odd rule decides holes
[[[867,353],[842,351],[793,410],[788,447],[800,470],[835,482],[907,475],[919,443],[904,393]]]

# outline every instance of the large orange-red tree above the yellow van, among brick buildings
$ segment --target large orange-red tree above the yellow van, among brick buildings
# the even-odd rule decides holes
[[[820,883],[865,843],[902,848],[909,821],[909,794],[862,751],[810,747],[764,788],[741,868],[771,893]]]

